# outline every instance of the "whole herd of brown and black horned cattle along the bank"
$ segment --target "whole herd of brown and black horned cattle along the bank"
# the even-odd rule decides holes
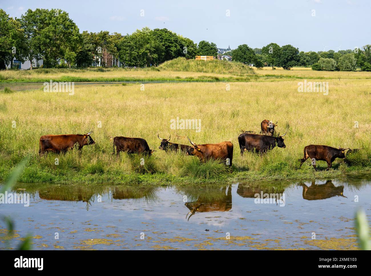
[[[260,134],[255,134],[253,131],[244,131],[238,137],[238,142],[240,146],[241,155],[244,151],[251,151],[256,153],[265,153],[275,146],[285,148],[286,145],[283,142],[282,136],[274,136],[276,123],[272,123],[269,120],[263,120],[261,123]],[[44,135],[40,137],[39,141],[39,153],[46,152],[66,152],[72,149],[76,144],[79,150],[85,145],[95,144],[94,140],[90,136],[92,131],[86,134],[66,134],[66,135]],[[197,156],[200,160],[206,161],[208,159],[223,160],[227,165],[232,166],[233,159],[233,144],[230,141],[221,142],[217,144],[203,144],[197,145],[193,143],[189,138],[191,146],[181,145],[176,143],[171,143],[169,139],[162,139],[157,134],[158,139],[161,140],[161,144],[158,147],[160,150],[168,151],[178,151],[186,153],[187,155]],[[114,154],[119,154],[119,152],[127,153],[144,153],[151,155],[155,150],[150,149],[146,140],[142,138],[130,138],[123,136],[116,136],[113,139],[113,149]],[[322,160],[326,161],[328,168],[331,168],[332,162],[336,158],[345,158],[345,150],[349,152],[355,151],[349,148],[344,149],[339,147],[336,149],[330,146],[323,145],[309,145],[304,147],[304,157],[300,159],[300,166],[305,162],[306,159],[311,160]],[[317,171],[315,162],[312,162],[313,168]]]

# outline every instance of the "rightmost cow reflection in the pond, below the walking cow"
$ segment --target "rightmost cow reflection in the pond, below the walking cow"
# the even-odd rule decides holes
[[[306,200],[318,200],[331,197],[345,197],[343,195],[344,186],[336,187],[331,182],[331,180],[328,180],[325,184],[315,184],[315,181],[312,181],[312,185],[309,187],[306,186],[305,184],[301,185],[303,187],[303,199]]]

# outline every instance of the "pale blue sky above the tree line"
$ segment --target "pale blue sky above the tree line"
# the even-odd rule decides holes
[[[300,51],[323,51],[324,46],[329,46],[326,51],[338,51],[339,46],[345,50],[371,44],[367,0],[0,0],[0,7],[12,17],[20,17],[27,9],[59,8],[69,13],[81,32],[126,34],[145,26],[165,27],[196,43],[214,42],[219,48],[230,45],[234,49],[245,43],[262,48],[275,42]]]

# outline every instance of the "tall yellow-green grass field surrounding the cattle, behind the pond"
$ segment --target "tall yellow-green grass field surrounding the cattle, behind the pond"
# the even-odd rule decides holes
[[[260,72],[268,70],[257,71],[257,74]],[[331,178],[343,173],[370,171],[371,82],[366,75],[303,69],[277,70],[274,74],[277,72],[298,72],[307,77],[306,74],[328,75],[329,93],[300,93],[298,79],[276,82],[269,79],[227,84],[145,84],[144,91],[140,90],[139,84],[99,85],[75,87],[74,95],[42,90],[0,94],[0,178],[5,178],[24,155],[31,153],[30,166],[20,181],[126,184],[204,181],[192,176],[190,160],[195,157],[158,150],[157,133],[161,137],[171,135],[172,142],[184,144],[188,144],[186,136],[199,144],[231,141],[234,144],[233,173],[222,173],[207,181]],[[48,78],[56,76],[54,71],[48,74]],[[73,74],[81,76],[77,72]],[[102,73],[87,70],[83,74]],[[103,74],[112,76],[121,71]],[[175,76],[199,73],[128,71],[128,74]],[[345,78],[347,74],[348,79]],[[343,77],[339,80],[338,75]],[[352,78],[354,76],[364,78]],[[177,117],[201,119],[201,131],[171,129],[170,120]],[[287,147],[276,147],[263,156],[246,153],[242,158],[237,141],[240,129],[259,131],[263,119],[278,120],[277,131],[280,134],[287,132]],[[359,122],[358,128],[354,127],[355,121]],[[81,155],[72,151],[66,155],[38,156],[40,136],[83,134],[90,130],[93,130],[96,144],[85,146]],[[142,175],[137,172],[136,160],[127,155],[112,156],[111,138],[114,136],[146,139],[152,149],[158,150],[149,160],[152,172],[156,173]],[[303,157],[303,147],[309,144],[362,150],[351,166],[336,159],[331,171],[315,173],[308,166],[309,161],[302,169],[297,169],[298,159]],[[54,164],[57,157],[60,159],[58,166]],[[325,162],[318,163],[320,168],[326,167]]]

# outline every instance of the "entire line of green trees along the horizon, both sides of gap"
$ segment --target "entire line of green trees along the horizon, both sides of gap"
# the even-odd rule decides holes
[[[29,9],[19,19],[0,9],[0,69],[6,69],[7,65],[12,68],[14,58],[21,62],[43,59],[45,68],[81,68],[94,62],[107,66],[103,57],[109,54],[124,66],[146,67],[180,56],[187,59],[194,59],[196,55],[217,56],[217,52],[213,42],[202,40],[197,45],[165,28],[144,27],[126,35],[108,31],[80,33],[68,13],[60,9]],[[232,56],[233,61],[258,68],[305,66],[326,71],[355,71],[356,68],[371,71],[371,45],[353,51],[299,52],[292,45],[270,43],[261,49],[252,49],[243,44],[226,54]]]

